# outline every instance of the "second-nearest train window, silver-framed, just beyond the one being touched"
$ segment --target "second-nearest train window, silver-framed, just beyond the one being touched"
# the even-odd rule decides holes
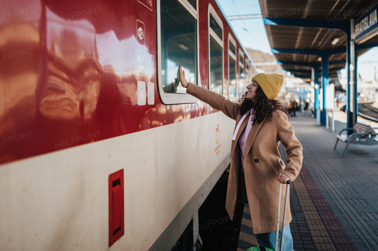
[[[209,90],[223,94],[223,23],[214,8],[208,6]]]

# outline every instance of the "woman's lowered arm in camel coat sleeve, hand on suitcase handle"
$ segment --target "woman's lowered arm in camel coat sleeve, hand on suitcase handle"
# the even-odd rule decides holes
[[[280,172],[286,174],[290,178],[290,182],[298,176],[302,168],[302,145],[299,143],[294,134],[294,129],[289,123],[284,112],[280,112],[277,116],[277,137],[286,147],[286,167]]]

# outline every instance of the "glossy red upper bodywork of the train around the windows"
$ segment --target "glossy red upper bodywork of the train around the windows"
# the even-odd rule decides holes
[[[148,2],[148,1],[147,1]],[[208,3],[199,1],[199,85],[208,88]],[[156,60],[156,9],[138,1],[3,2],[0,24],[0,163],[138,132],[216,112],[203,102],[164,105],[156,61],[155,104],[138,106],[136,22]],[[104,39],[96,37],[106,34]],[[111,35],[109,35],[111,34]],[[241,48],[237,42],[237,48]],[[225,52],[225,55],[227,53]],[[247,56],[245,56],[247,60]],[[105,63],[102,63],[103,60]],[[120,64],[121,63],[121,64]],[[227,56],[224,57],[227,80]],[[119,65],[120,64],[120,65]]]

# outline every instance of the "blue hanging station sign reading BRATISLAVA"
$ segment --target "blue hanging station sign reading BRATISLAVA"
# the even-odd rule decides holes
[[[356,20],[356,43],[361,44],[378,34],[377,9],[378,5],[373,6],[367,13]]]

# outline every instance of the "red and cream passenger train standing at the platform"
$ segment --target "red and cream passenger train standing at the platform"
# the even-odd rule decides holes
[[[1,250],[198,250],[235,122],[177,69],[234,102],[257,73],[220,4],[0,6]]]

